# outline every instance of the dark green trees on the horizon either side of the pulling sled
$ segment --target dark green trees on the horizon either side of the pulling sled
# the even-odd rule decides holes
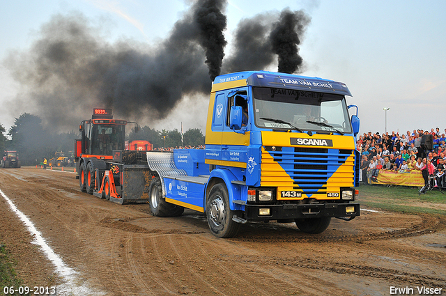
[[[8,132],[0,123],[0,152],[17,150],[22,166],[40,164],[43,158],[54,157],[56,151],[74,153],[75,139],[80,139],[78,131],[55,134],[45,129],[42,120],[33,114],[24,113],[15,118],[15,123]],[[178,130],[155,130],[144,126],[135,132],[134,129],[126,137],[128,141],[146,140],[153,148],[180,147],[181,133]],[[199,129],[189,129],[183,134],[183,146],[204,145],[204,136]],[[3,155],[3,153],[2,153]]]

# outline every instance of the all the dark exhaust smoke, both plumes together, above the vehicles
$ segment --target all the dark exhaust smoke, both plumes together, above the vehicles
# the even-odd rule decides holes
[[[283,10],[279,21],[277,13],[243,20],[224,59],[225,7],[226,1],[195,2],[157,45],[111,44],[84,15],[55,15],[29,52],[3,61],[23,87],[17,104],[26,103],[54,132],[73,130],[94,107],[150,123],[169,116],[182,98],[206,98],[221,70],[263,70],[277,55],[282,72],[299,70],[298,45],[309,23],[302,11]]]

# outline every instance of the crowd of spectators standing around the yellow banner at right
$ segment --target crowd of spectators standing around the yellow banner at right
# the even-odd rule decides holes
[[[424,135],[431,134],[431,137]],[[376,181],[380,170],[407,173],[420,171],[424,178],[424,185],[446,187],[445,171],[445,141],[446,129],[431,131],[413,130],[400,135],[398,132],[382,136],[379,132],[364,133],[357,139],[356,148],[361,153],[362,183],[367,185],[371,180]],[[426,145],[427,139],[432,139],[431,145]],[[428,141],[429,142],[429,141]]]

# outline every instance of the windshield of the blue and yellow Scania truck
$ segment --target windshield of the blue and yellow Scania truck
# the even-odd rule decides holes
[[[344,95],[253,88],[257,127],[351,133]]]

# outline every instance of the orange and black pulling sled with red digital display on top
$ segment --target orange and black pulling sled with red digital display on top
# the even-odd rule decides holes
[[[83,192],[117,203],[146,202],[146,153],[125,150],[126,120],[113,119],[112,109],[93,109],[91,120],[79,125],[75,142],[79,187]]]

